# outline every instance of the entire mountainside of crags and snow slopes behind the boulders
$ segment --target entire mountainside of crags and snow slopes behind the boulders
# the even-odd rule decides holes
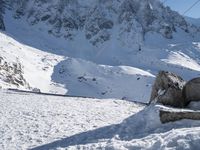
[[[199,28],[159,0],[3,2],[3,88],[146,102],[159,70],[199,75]]]

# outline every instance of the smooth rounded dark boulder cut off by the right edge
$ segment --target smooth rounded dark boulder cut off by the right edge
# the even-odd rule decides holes
[[[187,104],[191,101],[200,101],[200,78],[194,78],[185,84],[183,98]]]

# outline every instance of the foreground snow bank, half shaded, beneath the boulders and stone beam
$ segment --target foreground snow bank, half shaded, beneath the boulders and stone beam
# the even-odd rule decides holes
[[[113,150],[181,150],[198,148],[200,146],[200,121],[182,120],[162,124],[159,118],[159,110],[162,109],[176,111],[173,108],[167,108],[161,105],[151,105],[125,119],[117,128],[115,128],[117,132],[113,134],[112,138],[93,142],[88,141],[86,144],[71,145],[67,148]]]

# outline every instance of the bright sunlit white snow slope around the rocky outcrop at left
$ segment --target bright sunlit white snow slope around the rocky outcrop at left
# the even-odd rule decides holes
[[[3,60],[7,63],[18,62],[21,64],[22,75],[30,87],[39,88],[44,92],[66,91],[51,82],[54,66],[63,59],[61,56],[26,46],[4,33],[0,33],[0,43],[0,55]],[[5,73],[4,78],[6,78],[7,74]],[[3,88],[17,88],[12,83],[9,84],[6,80],[3,81],[1,82]],[[28,87],[21,86],[21,88]]]

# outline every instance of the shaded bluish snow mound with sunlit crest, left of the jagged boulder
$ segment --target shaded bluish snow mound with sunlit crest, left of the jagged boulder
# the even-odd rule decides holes
[[[147,102],[154,75],[130,66],[98,65],[66,58],[55,66],[52,80],[65,85],[69,95]]]

